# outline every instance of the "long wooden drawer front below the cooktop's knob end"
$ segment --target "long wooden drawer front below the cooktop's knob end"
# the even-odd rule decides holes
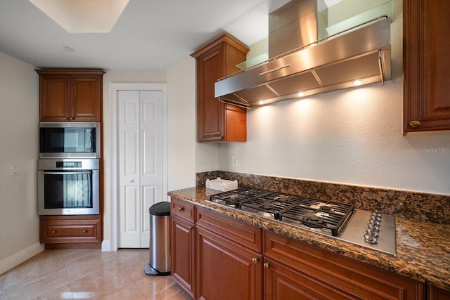
[[[423,299],[423,283],[264,230],[264,256],[358,299]]]

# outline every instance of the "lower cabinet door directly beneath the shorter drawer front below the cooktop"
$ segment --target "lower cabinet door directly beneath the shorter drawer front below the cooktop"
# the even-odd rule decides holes
[[[197,299],[262,299],[262,256],[197,226]]]

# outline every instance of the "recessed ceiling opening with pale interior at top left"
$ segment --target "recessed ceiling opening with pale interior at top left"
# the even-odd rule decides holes
[[[28,0],[70,33],[108,33],[129,0]]]

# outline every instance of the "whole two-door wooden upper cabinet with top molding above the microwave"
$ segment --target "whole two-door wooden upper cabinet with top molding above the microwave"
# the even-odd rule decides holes
[[[101,121],[103,70],[36,70],[41,121]]]

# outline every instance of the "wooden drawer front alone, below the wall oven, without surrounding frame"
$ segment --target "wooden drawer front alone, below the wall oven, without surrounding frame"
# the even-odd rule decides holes
[[[101,242],[101,220],[41,221],[42,243]]]

